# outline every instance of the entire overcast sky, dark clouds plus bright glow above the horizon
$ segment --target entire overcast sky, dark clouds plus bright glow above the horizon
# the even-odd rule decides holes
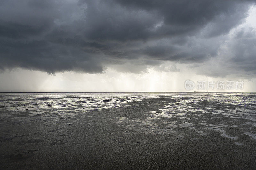
[[[256,91],[255,20],[245,0],[1,0],[0,91]]]

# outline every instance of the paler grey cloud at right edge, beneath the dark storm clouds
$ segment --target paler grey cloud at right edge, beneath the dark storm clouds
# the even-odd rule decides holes
[[[252,78],[256,75],[256,30],[240,28],[223,42],[219,55],[194,67],[197,74],[211,77]]]

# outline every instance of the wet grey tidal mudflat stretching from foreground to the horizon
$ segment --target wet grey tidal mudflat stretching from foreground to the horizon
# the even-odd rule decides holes
[[[0,93],[1,169],[255,169],[256,93]]]

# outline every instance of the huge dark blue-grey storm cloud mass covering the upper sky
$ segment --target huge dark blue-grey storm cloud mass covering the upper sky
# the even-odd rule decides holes
[[[137,72],[140,69],[135,67],[144,69],[145,64],[164,61],[202,63],[217,56],[221,43],[215,38],[240,24],[252,4],[223,0],[2,0],[0,69],[99,73],[105,66],[128,63],[124,71]],[[244,49],[236,49],[241,55],[230,62],[242,63],[243,69],[254,56],[243,57]]]

